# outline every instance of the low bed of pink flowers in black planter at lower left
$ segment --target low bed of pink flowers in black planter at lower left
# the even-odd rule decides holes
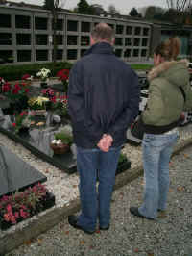
[[[55,204],[55,196],[44,185],[38,183],[23,192],[14,192],[0,198],[0,228],[6,230],[12,225],[35,216]]]

